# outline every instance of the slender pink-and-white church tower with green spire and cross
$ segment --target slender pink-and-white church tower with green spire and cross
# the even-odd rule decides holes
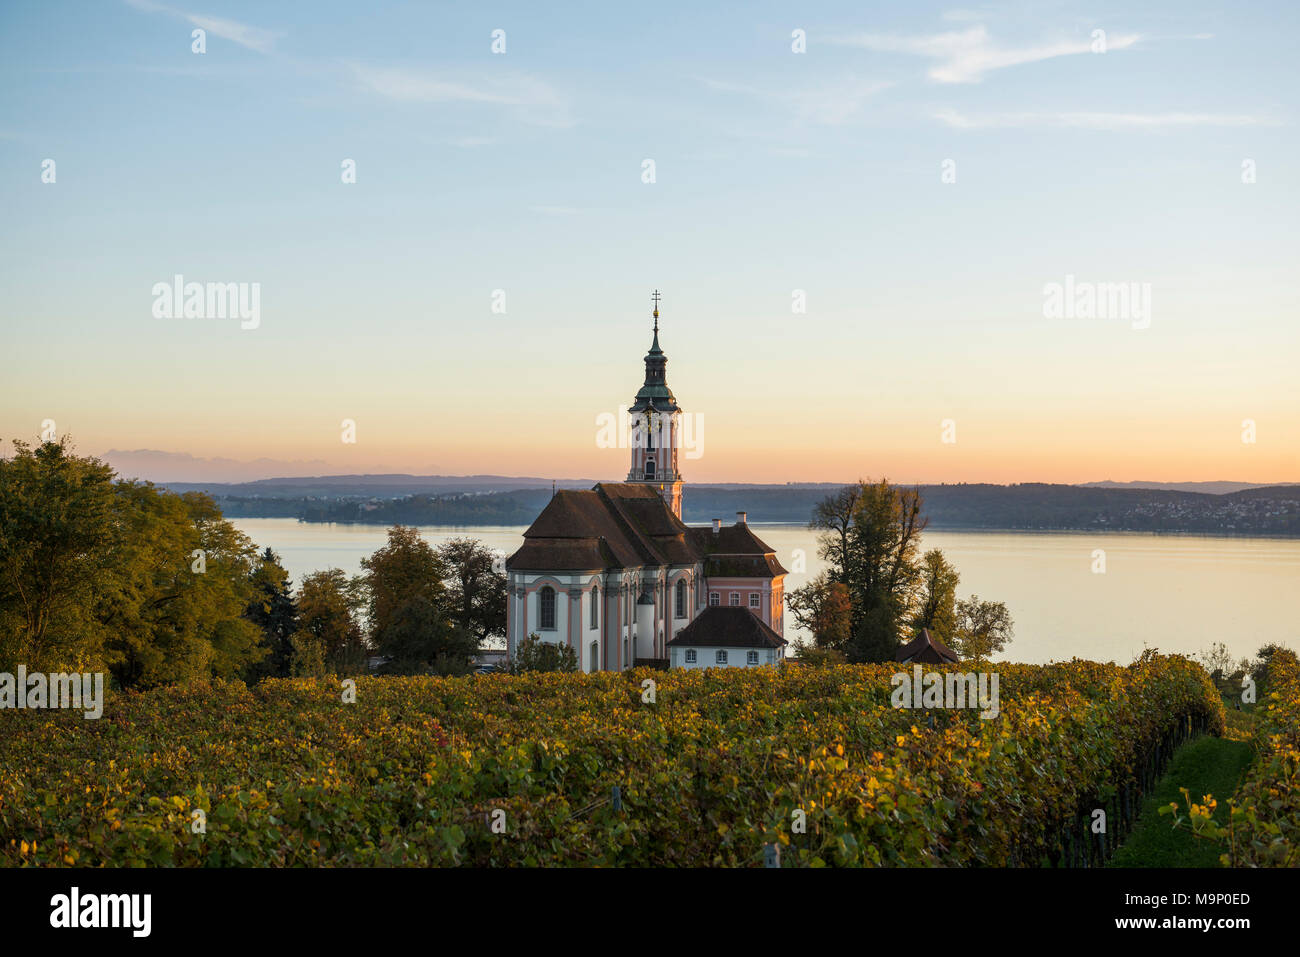
[[[681,438],[681,408],[668,387],[668,356],[659,348],[659,290],[654,299],[654,341],[646,352],[646,380],[628,410],[632,436],[629,482],[653,485],[663,501],[681,518],[681,472],[677,446]]]

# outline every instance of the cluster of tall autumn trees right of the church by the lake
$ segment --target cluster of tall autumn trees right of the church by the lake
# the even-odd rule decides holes
[[[892,662],[928,629],[962,658],[985,659],[1014,633],[1002,602],[957,597],[961,575],[940,549],[922,553],[928,524],[920,489],[859,481],[812,510],[828,568],[794,589],[786,606],[811,632],[809,661]]]

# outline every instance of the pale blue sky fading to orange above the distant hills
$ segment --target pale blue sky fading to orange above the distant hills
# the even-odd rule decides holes
[[[621,478],[658,289],[688,484],[1296,482],[1297,21],[4,4],[0,439]]]

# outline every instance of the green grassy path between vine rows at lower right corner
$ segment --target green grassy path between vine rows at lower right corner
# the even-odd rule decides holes
[[[1214,819],[1226,823],[1227,798],[1236,793],[1253,757],[1249,740],[1242,740],[1240,736],[1205,735],[1174,752],[1169,770],[1147,796],[1138,824],[1115,852],[1110,866],[1218,867],[1219,854],[1225,848],[1216,841],[1197,837],[1191,831],[1174,830],[1173,818],[1167,814],[1161,815],[1158,809],[1170,802],[1186,809],[1187,801],[1180,788],[1187,788],[1196,802],[1200,802],[1204,794],[1213,794],[1218,801]]]

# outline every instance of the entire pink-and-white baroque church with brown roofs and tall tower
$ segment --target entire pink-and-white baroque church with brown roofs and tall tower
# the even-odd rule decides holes
[[[584,672],[755,667],[785,655],[785,568],[746,521],[681,520],[682,410],[659,348],[659,294],[624,482],[559,490],[506,562],[506,641],[568,645]]]

